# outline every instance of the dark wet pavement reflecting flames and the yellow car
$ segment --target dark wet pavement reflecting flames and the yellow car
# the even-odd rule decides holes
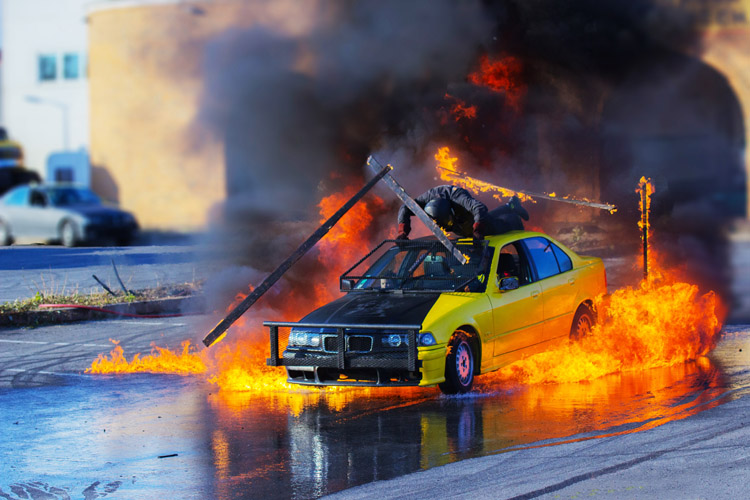
[[[747,342],[747,332],[737,339]],[[734,349],[723,344],[711,358],[670,367],[454,397],[432,389],[221,391],[208,400],[219,422],[211,440],[217,497],[240,487],[319,496],[466,458],[653,428],[748,386],[717,361]]]

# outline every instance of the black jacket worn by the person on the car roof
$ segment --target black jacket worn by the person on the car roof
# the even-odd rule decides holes
[[[443,228],[446,231],[453,231],[462,238],[468,238],[472,235],[475,222],[485,222],[487,220],[487,206],[479,200],[474,199],[468,191],[456,186],[437,186],[426,193],[419,195],[414,201],[417,205],[424,208],[427,202],[437,198],[445,198],[451,202],[453,209],[453,227]],[[399,224],[405,225],[406,233],[411,231],[411,216],[414,213],[404,205],[398,211]]]

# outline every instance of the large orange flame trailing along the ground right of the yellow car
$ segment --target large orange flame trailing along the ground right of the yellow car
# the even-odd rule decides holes
[[[483,386],[592,380],[610,373],[671,366],[708,353],[719,338],[713,292],[698,295],[687,283],[616,291],[597,304],[600,323],[591,334],[480,377]]]

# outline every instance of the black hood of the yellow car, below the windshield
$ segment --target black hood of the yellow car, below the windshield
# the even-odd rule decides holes
[[[421,325],[440,293],[349,292],[314,310],[302,323]]]

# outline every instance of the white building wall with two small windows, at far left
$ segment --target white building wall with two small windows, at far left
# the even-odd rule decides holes
[[[86,3],[2,2],[3,125],[23,145],[27,166],[41,175],[50,153],[89,144]],[[77,60],[76,78],[65,77],[66,55]],[[55,61],[53,79],[40,80],[41,56]]]

